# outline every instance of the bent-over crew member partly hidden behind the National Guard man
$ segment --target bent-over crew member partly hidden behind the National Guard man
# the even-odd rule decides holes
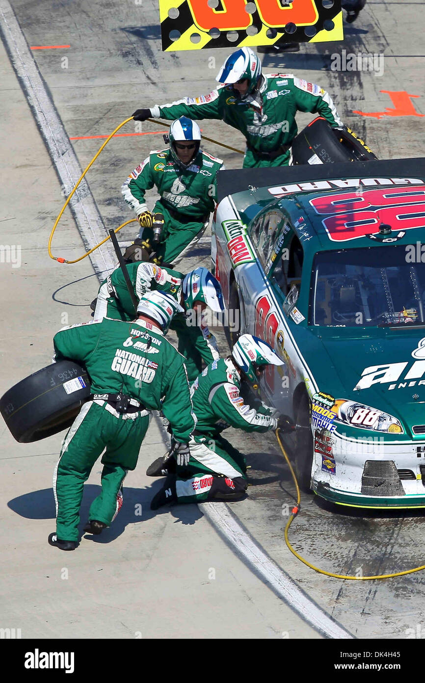
[[[183,307],[184,313],[173,318],[170,329],[177,333],[177,349],[186,358],[188,380],[193,382],[202,370],[202,361],[209,365],[220,358],[216,337],[203,320],[206,307],[215,313],[224,311],[220,283],[207,268],[201,267],[188,275],[145,262],[128,264],[126,268],[137,298],[149,291],[161,290],[171,294]],[[134,305],[121,268],[102,282],[96,301],[95,320],[104,316],[118,320],[134,318]]]

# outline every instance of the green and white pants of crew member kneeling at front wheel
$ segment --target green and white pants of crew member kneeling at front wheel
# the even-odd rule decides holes
[[[244,496],[245,457],[221,435],[192,436],[187,467],[177,466],[175,489],[179,503],[237,500]]]

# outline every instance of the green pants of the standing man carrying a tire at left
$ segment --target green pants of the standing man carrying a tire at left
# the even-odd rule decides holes
[[[134,470],[138,451],[149,426],[149,413],[119,415],[106,401],[83,405],[65,436],[53,475],[57,538],[78,541],[80,505],[84,482],[102,456],[102,492],[91,503],[89,520],[111,524],[122,505],[122,484]]]

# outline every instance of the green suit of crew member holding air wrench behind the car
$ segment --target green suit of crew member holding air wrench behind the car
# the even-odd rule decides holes
[[[221,159],[203,150],[187,168],[175,161],[170,150],[155,150],[128,176],[121,192],[137,216],[148,210],[147,190],[156,186],[160,194],[152,210],[164,214],[165,219],[160,243],[154,247],[158,260],[173,262],[203,232],[214,211],[217,171],[223,169]],[[139,236],[152,244],[151,227],[141,228]]]

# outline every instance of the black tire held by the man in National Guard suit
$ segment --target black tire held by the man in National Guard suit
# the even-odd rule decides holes
[[[67,384],[70,380],[74,386]],[[72,391],[67,393],[67,389]],[[0,399],[0,413],[16,441],[31,443],[70,427],[89,395],[90,381],[83,367],[59,361],[6,391]]]

